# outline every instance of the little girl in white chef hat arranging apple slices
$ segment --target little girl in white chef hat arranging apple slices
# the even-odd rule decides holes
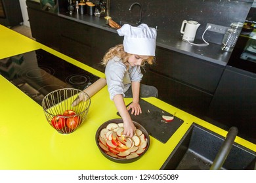
[[[140,24],[133,27],[123,25],[117,30],[120,36],[124,36],[123,44],[110,48],[105,54],[102,65],[106,66],[105,75],[110,99],[123,119],[123,135],[133,137],[135,125],[131,120],[131,114],[141,114],[139,97],[158,97],[158,90],[154,86],[140,84],[142,73],[140,67],[145,63],[152,64],[155,60],[156,29]],[[133,97],[133,102],[128,108],[123,97]]]

